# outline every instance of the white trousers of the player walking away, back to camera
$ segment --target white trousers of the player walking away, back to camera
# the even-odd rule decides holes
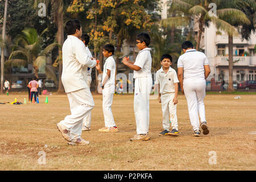
[[[201,122],[206,122],[204,108],[205,88],[205,82],[183,85],[188,103],[189,119],[194,131],[199,130],[199,117]]]

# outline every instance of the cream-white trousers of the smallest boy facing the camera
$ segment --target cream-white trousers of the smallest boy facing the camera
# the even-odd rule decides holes
[[[176,114],[177,105],[174,105],[174,102],[172,102],[174,100],[174,96],[175,96],[175,93],[161,94],[162,111],[163,111],[163,128],[164,130],[167,130],[167,131],[170,131],[170,121],[172,124],[172,129],[178,130],[177,114]]]

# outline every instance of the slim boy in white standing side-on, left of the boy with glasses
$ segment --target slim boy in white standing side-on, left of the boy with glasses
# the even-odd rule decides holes
[[[118,132],[112,114],[112,102],[115,93],[115,60],[113,58],[115,48],[112,44],[106,44],[103,47],[104,57],[108,57],[105,61],[103,72],[100,64],[96,64],[96,69],[102,75],[102,109],[104,114],[105,127],[99,129],[101,132]]]

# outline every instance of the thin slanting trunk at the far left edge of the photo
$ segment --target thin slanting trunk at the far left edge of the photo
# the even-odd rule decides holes
[[[7,6],[8,6],[8,0],[5,1],[5,15],[3,19],[3,31],[2,31],[2,39],[3,42],[5,42],[5,31],[6,31],[6,18],[7,18]],[[1,93],[3,93],[3,72],[5,67],[5,49],[1,49]]]

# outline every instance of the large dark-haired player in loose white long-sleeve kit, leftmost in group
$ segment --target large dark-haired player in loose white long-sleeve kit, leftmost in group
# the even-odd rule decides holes
[[[82,71],[93,68],[96,60],[92,60],[85,51],[84,43],[79,40],[82,36],[82,27],[79,20],[70,20],[66,23],[65,30],[68,34],[62,48],[63,73],[61,80],[71,109],[71,115],[57,123],[57,128],[68,140],[68,144],[85,145],[88,141],[81,139],[82,120],[94,107],[90,89]]]

